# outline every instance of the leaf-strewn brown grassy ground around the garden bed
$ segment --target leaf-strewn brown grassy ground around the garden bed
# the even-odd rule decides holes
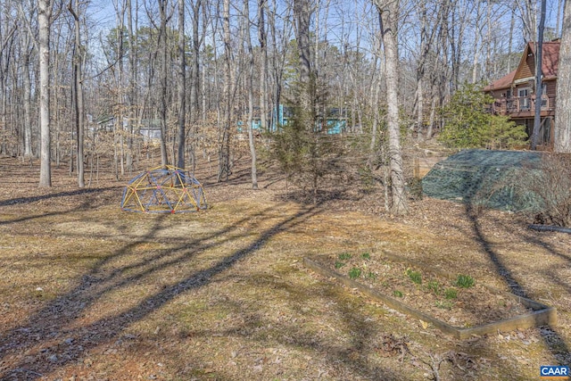
[[[2,380],[533,380],[571,363],[571,236],[529,216],[382,191],[297,202],[271,170],[216,183],[209,209],[120,210],[100,174],[0,158]],[[370,189],[369,189],[370,190]],[[317,254],[396,253],[556,307],[557,327],[457,340],[303,266]]]

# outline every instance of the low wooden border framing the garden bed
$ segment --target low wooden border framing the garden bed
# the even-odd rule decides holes
[[[388,258],[390,261],[396,261],[412,265],[409,261],[399,258],[393,254],[384,252],[383,255],[386,258]],[[426,323],[430,323],[434,327],[437,327],[438,329],[443,331],[444,334],[451,335],[457,339],[466,339],[472,335],[493,334],[498,331],[508,332],[508,331],[514,331],[516,329],[525,329],[525,328],[540,327],[540,326],[555,327],[557,325],[557,311],[554,307],[550,307],[540,302],[535,302],[531,299],[522,296],[517,296],[515,294],[507,293],[505,291],[501,291],[490,286],[482,285],[487,289],[489,289],[493,294],[501,294],[516,299],[517,302],[521,302],[526,307],[529,307],[534,311],[525,313],[523,315],[517,315],[516,317],[510,319],[499,320],[477,327],[470,327],[470,328],[454,327],[442,320],[435,319],[432,316],[427,315],[422,311],[418,311],[410,307],[409,305],[394,299],[391,296],[381,294],[376,290],[369,288],[368,286],[361,285],[359,282],[356,282],[350,279],[349,277],[344,277],[343,275],[337,273],[336,271],[327,269],[318,261],[313,261],[310,258],[304,258],[303,263],[305,264],[306,267],[312,269],[313,271],[319,273],[324,277],[335,277],[338,281],[343,283],[343,285],[348,286],[350,288],[356,288],[362,294],[366,294],[371,299],[383,302],[385,303],[385,305],[393,308],[396,311],[401,311],[402,313],[410,315],[414,318],[426,321]],[[422,267],[427,272],[432,272],[435,275],[447,278],[453,278],[451,277],[451,274],[444,273],[437,269],[427,268],[426,266]]]

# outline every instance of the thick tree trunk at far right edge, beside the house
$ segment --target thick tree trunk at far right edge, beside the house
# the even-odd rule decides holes
[[[571,153],[571,1],[565,2],[561,26],[554,151]]]

